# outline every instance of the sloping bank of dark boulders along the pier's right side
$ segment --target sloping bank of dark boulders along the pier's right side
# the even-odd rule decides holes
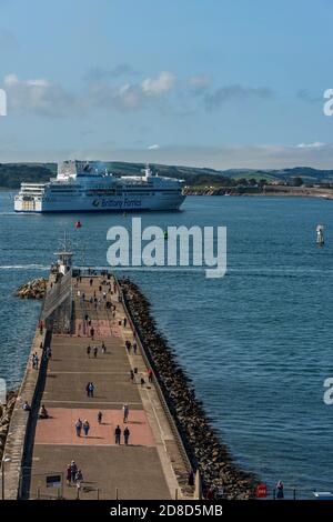
[[[220,441],[189,378],[172,354],[167,340],[159,333],[148,300],[129,279],[119,282],[193,470],[200,470],[204,490],[216,491],[222,488],[228,499],[253,498],[255,476],[241,470]]]

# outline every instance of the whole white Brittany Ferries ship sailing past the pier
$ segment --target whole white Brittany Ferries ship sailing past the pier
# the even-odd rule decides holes
[[[114,175],[100,162],[63,161],[57,178],[43,183],[21,183],[16,212],[95,212],[179,210],[185,195],[183,181],[153,174]]]

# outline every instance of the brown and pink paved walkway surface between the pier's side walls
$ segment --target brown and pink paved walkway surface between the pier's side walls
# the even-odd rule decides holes
[[[129,325],[123,325],[124,311],[118,302],[111,279],[73,280],[74,335],[53,335],[52,358],[48,363],[47,379],[41,395],[50,418],[39,420],[36,426],[31,461],[30,498],[52,498],[57,488],[47,488],[47,475],[62,474],[61,493],[65,499],[172,499],[179,489],[178,478],[184,479],[185,469],[158,399],[154,385],[148,382],[147,369],[138,350],[127,353],[124,341],[133,341]],[[109,281],[108,281],[109,283]],[[100,292],[102,285],[102,292]],[[103,301],[112,300],[113,314]],[[82,293],[85,294],[84,301]],[[101,303],[89,303],[97,295]],[[84,320],[85,314],[91,325]],[[121,325],[119,322],[121,321]],[[94,340],[90,337],[94,329]],[[107,347],[105,353],[101,344]],[[98,347],[94,358],[87,347]],[[138,369],[134,382],[130,370]],[[140,383],[141,377],[144,384]],[[87,383],[93,382],[93,398],[87,395]],[[123,422],[122,406],[129,405],[128,423]],[[98,423],[98,412],[103,414]],[[74,423],[80,418],[90,423],[88,436],[75,433]],[[129,445],[115,444],[114,429],[125,425],[130,430]],[[82,470],[80,491],[75,484],[65,484],[65,471],[71,461]],[[176,476],[178,474],[178,476]],[[180,493],[179,493],[180,495]]]

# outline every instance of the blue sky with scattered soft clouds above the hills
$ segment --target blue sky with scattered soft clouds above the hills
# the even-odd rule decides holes
[[[333,0],[0,0],[0,162],[333,168]]]

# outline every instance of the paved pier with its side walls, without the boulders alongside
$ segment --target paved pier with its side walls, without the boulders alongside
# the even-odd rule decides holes
[[[51,273],[4,448],[4,499],[193,496],[186,454],[121,301],[104,271]],[[73,462],[82,476],[69,481]]]

